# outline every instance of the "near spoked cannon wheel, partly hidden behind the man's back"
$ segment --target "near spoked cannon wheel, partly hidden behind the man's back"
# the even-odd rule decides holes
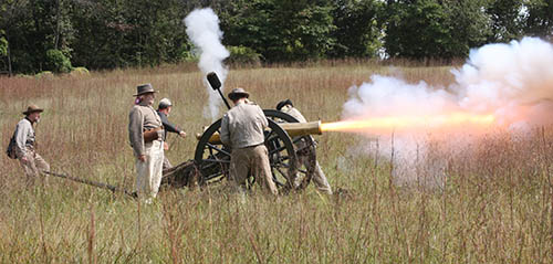
[[[281,190],[288,191],[293,188],[292,179],[296,172],[296,155],[292,139],[275,122],[268,118],[269,129],[265,131],[265,146],[269,150],[269,161],[273,172],[273,181]],[[196,146],[195,161],[201,177],[198,179],[200,186],[218,182],[229,175],[230,149],[220,144],[209,142],[215,133],[221,131],[221,119],[211,124],[204,131]],[[250,186],[254,179],[249,178]]]

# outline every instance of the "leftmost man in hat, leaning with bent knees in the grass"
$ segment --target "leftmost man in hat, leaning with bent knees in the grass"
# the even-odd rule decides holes
[[[40,122],[40,113],[44,109],[29,105],[23,112],[25,117],[15,126],[15,131],[8,147],[8,155],[19,159],[27,175],[28,184],[33,184],[41,171],[50,171],[50,165],[36,152],[34,124]]]

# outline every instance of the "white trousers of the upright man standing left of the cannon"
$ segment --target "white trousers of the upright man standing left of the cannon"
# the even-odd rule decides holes
[[[161,183],[164,165],[163,141],[154,140],[145,145],[146,161],[136,160],[136,193],[140,199],[156,198]]]

